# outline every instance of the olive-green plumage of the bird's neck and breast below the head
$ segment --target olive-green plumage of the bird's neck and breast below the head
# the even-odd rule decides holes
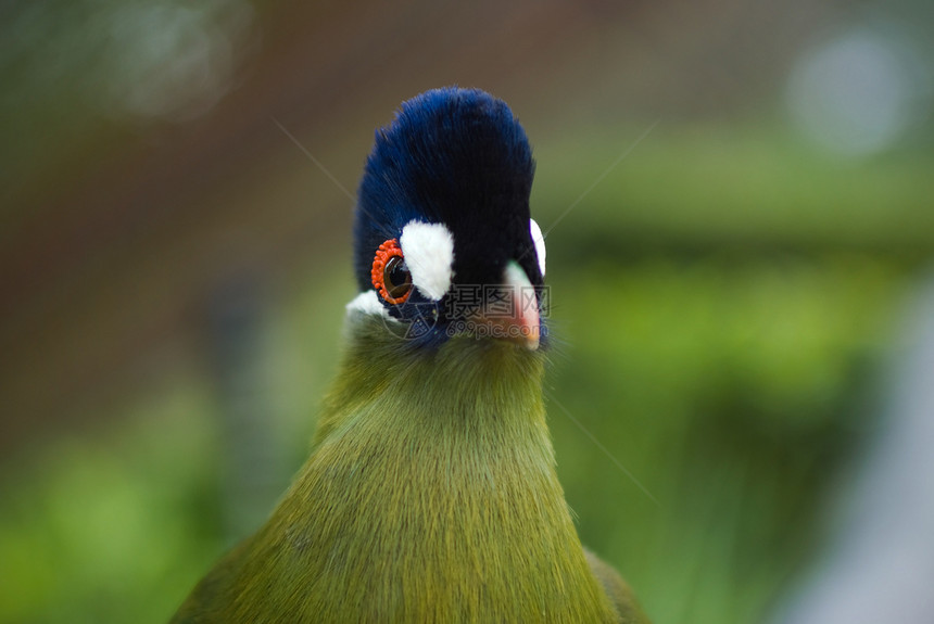
[[[351,313],[314,450],[175,623],[644,622],[555,473],[544,356]]]

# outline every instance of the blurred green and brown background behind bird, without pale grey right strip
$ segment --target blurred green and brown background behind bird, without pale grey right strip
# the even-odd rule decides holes
[[[344,190],[449,84],[533,142],[583,540],[657,624],[762,621],[819,551],[934,250],[929,4],[0,14],[0,622],[164,622],[262,522],[355,294]]]

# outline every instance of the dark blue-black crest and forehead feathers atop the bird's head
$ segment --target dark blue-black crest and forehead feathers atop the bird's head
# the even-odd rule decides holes
[[[529,233],[534,162],[526,132],[505,102],[479,89],[449,87],[406,101],[376,132],[357,193],[355,272],[371,288],[383,241],[413,219],[454,234],[455,279],[491,283],[509,259],[542,276]]]

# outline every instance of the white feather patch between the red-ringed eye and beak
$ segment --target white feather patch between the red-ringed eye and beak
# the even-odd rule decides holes
[[[409,221],[402,228],[399,246],[412,283],[426,297],[439,301],[454,278],[454,235],[444,224]]]

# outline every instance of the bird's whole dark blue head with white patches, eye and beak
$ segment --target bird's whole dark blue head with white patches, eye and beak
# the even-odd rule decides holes
[[[427,91],[376,132],[361,180],[351,311],[379,316],[413,345],[453,336],[534,351],[545,247],[531,218],[534,162],[501,100]]]

